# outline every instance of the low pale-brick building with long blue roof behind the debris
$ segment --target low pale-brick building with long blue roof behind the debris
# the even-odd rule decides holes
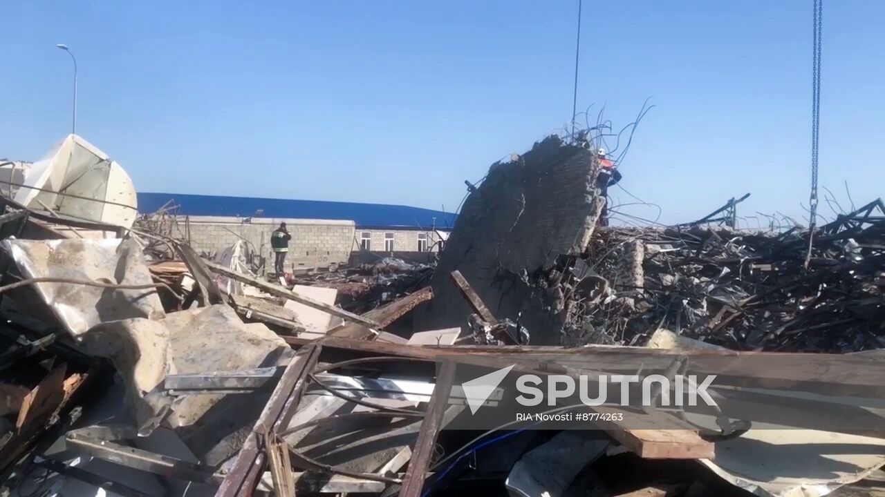
[[[273,262],[270,236],[280,223],[286,223],[292,235],[287,268],[292,271],[346,263],[353,252],[435,252],[455,224],[451,213],[404,205],[153,192],[137,195],[142,215],[165,210],[174,219],[173,236],[188,241],[204,256],[217,256],[242,241],[251,255]]]

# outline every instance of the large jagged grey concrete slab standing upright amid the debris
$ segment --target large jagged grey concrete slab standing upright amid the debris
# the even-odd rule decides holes
[[[465,325],[472,311],[449,277],[459,270],[495,317],[519,317],[533,344],[558,344],[562,295],[544,279],[558,256],[589,243],[603,206],[596,169],[593,152],[558,136],[492,164],[458,214],[431,282],[435,298],[419,309],[415,330]]]

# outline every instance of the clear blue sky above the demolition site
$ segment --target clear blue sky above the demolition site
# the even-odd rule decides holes
[[[66,43],[78,133],[139,190],[453,210],[464,180],[570,119],[576,11],[577,0],[0,1],[0,157],[37,159],[70,131],[72,64],[55,47]],[[843,207],[844,180],[857,204],[885,186],[883,18],[879,0],[824,6],[820,184]],[[804,213],[811,0],[585,0],[582,19],[579,110],[606,104],[618,126],[656,105],[621,172],[662,221],[746,192],[743,214]]]

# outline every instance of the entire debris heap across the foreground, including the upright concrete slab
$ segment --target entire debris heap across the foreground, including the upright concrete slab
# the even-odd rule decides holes
[[[197,255],[173,206],[121,229],[0,197],[5,492],[820,497],[874,486],[882,203],[816,230],[806,269],[812,233],[798,228],[701,226],[729,216],[598,227],[595,157],[550,137],[493,164],[436,268],[381,260],[295,285],[258,278],[239,245]],[[379,290],[352,289],[370,283]],[[669,386],[642,406],[542,406],[606,417],[573,430],[502,414],[519,408],[512,391],[462,378],[470,368],[500,385],[510,371],[720,380],[715,407],[697,412],[658,409]],[[472,424],[490,412],[496,423]]]

